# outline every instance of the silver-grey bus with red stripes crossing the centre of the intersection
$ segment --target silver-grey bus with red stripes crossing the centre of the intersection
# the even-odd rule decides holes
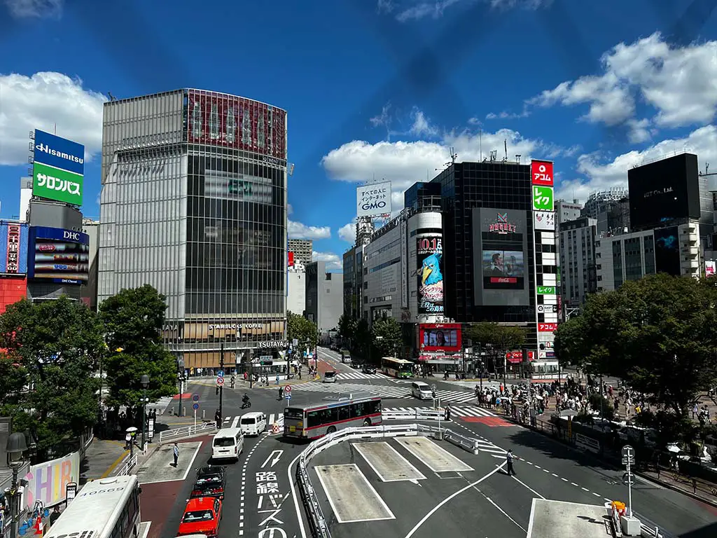
[[[292,405],[284,410],[284,435],[316,439],[351,426],[381,424],[381,397],[339,396],[323,401]]]

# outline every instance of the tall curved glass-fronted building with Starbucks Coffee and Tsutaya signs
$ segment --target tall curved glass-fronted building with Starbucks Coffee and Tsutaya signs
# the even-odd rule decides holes
[[[105,103],[98,300],[151,284],[186,369],[284,372],[286,112],[175,90]]]

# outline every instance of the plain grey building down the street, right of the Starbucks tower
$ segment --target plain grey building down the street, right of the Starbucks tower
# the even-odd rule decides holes
[[[321,341],[338,326],[343,313],[343,275],[328,273],[326,262],[306,265],[305,316],[316,324]]]

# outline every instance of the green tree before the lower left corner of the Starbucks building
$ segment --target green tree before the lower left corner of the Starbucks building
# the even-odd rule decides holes
[[[140,405],[140,379],[149,376],[147,397],[156,401],[176,393],[176,359],[162,344],[165,297],[151,285],[122,290],[100,305],[105,324],[108,407]],[[118,351],[121,350],[121,351]]]

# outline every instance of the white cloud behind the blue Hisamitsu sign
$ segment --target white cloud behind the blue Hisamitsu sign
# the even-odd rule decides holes
[[[104,95],[58,72],[32,77],[0,75],[0,164],[27,163],[28,133],[35,128],[85,144],[88,161],[102,147]]]

